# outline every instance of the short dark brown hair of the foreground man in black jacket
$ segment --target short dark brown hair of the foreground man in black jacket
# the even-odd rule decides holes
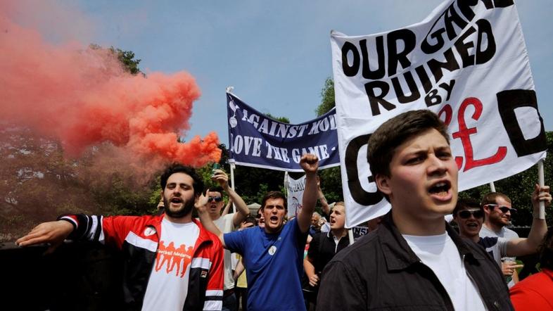
[[[395,148],[428,129],[436,129],[450,144],[446,125],[430,110],[407,111],[384,122],[369,138],[367,160],[372,176],[383,174],[390,177],[390,161]]]

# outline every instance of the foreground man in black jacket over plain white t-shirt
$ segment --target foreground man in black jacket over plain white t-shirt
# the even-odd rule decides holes
[[[457,203],[449,134],[412,110],[371,134],[367,160],[392,208],[324,269],[321,310],[513,310],[495,262],[444,220]]]

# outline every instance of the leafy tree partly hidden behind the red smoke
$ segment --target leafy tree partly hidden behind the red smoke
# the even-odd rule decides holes
[[[90,49],[103,48],[91,44]],[[132,51],[113,46],[108,51],[128,72],[141,72]],[[124,170],[94,170],[94,160],[110,147],[102,144],[78,159],[66,158],[56,139],[0,124],[0,242],[13,241],[65,212],[140,215],[155,210],[158,201],[151,201],[155,196],[159,200],[159,180],[137,186]]]

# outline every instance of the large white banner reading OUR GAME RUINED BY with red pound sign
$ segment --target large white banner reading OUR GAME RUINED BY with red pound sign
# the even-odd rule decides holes
[[[407,110],[432,110],[448,125],[459,191],[545,158],[513,1],[445,1],[402,29],[355,37],[332,32],[331,46],[346,227],[389,210],[369,171],[367,140]]]

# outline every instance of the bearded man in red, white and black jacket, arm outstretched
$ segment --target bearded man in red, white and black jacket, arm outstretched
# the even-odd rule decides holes
[[[88,240],[122,251],[128,310],[221,310],[222,245],[192,218],[203,182],[193,168],[174,164],[160,184],[160,215],[62,215],[34,227],[16,243],[51,243],[53,250],[65,239]]]

